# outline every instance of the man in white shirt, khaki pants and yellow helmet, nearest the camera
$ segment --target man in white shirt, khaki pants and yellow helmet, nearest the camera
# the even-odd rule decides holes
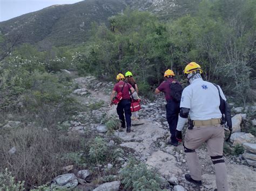
[[[187,181],[201,185],[201,169],[195,149],[207,144],[215,168],[217,190],[228,190],[226,165],[223,158],[224,126],[221,125],[219,91],[214,84],[201,78],[203,70],[196,62],[190,62],[184,69],[190,85],[181,95],[180,114],[176,137],[182,139],[181,131],[190,116],[190,127],[186,130],[184,149],[190,174]],[[219,87],[221,97],[226,100]],[[215,189],[216,190],[216,189]]]

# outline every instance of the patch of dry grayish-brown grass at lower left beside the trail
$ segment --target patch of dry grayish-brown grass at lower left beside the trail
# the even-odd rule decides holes
[[[8,168],[16,180],[25,181],[26,188],[42,185],[70,165],[63,154],[86,150],[86,139],[86,135],[61,135],[56,130],[32,126],[9,130],[8,135],[0,136],[0,169]],[[9,154],[14,146],[17,151]]]

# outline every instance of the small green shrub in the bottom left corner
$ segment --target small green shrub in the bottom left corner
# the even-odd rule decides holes
[[[0,190],[12,191],[12,190],[25,190],[24,181],[15,181],[14,176],[11,172],[5,168],[3,173],[0,173]]]

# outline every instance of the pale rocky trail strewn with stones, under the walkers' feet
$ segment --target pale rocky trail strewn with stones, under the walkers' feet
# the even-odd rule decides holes
[[[102,118],[106,116],[118,117],[116,107],[110,107],[109,105],[109,95],[113,83],[99,82],[92,76],[78,77],[74,80],[74,83],[77,83],[78,89],[73,91],[73,94],[76,95],[77,100],[81,104],[88,105],[88,107],[95,103],[100,104],[98,107],[93,108],[93,111],[90,113],[91,116],[96,117],[96,122],[98,123],[95,120],[92,122],[92,117],[88,116],[88,112],[81,112],[76,116],[76,121],[71,122],[70,130],[83,133],[85,126],[89,125],[90,128],[96,129],[98,133],[104,136],[107,129],[102,124]],[[184,175],[189,173],[189,171],[183,146],[181,144],[178,147],[167,145],[170,135],[165,118],[165,100],[163,95],[157,96],[157,101],[145,101],[142,105],[142,110],[139,111],[139,116],[138,121],[132,121],[131,133],[126,133],[122,129],[114,132],[114,136],[122,140],[121,147],[130,148],[134,151],[138,160],[156,168],[162,178],[166,179],[173,186],[169,190],[213,190],[216,188],[214,167],[210,156],[207,154],[205,145],[197,150],[203,174],[203,186],[197,187],[185,180]],[[237,123],[237,126],[240,126],[243,120],[242,117],[246,116],[240,115],[238,119],[232,120],[238,120],[234,122]],[[81,122],[80,119],[83,119],[84,122]],[[235,135],[235,133],[240,134]],[[232,134],[233,142],[240,144],[245,142],[256,143],[254,136],[250,133],[241,134],[239,130],[235,130],[235,133]],[[252,152],[255,153],[255,150],[248,152],[250,154]],[[225,156],[225,161],[230,190],[256,190],[256,168],[253,165],[247,164],[244,155],[227,155]],[[110,189],[102,190],[112,189],[111,187]]]

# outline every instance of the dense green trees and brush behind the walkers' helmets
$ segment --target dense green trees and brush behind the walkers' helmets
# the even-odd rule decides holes
[[[150,12],[126,9],[109,18],[110,27],[94,29],[95,43],[82,55],[78,70],[108,79],[131,70],[140,87],[148,88],[163,80],[167,68],[179,78],[184,66],[196,61],[207,80],[245,104],[253,98],[255,6],[251,0],[202,1],[194,15],[167,23]]]

